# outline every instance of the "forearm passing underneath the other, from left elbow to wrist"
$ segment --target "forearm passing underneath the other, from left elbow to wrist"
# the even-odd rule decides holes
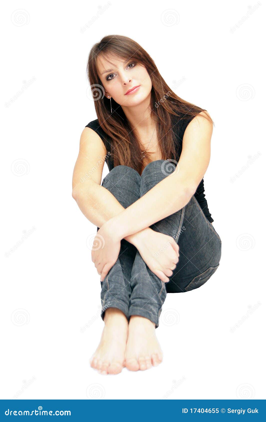
[[[88,186],[86,189],[83,189],[82,185],[76,186],[76,188],[73,189],[72,195],[82,214],[97,227],[101,227],[111,218],[118,216],[125,210],[108,189],[105,189],[95,182],[91,182],[89,189]],[[149,227],[143,228],[124,238],[128,242],[135,244],[136,240],[147,230],[151,229],[149,229]]]

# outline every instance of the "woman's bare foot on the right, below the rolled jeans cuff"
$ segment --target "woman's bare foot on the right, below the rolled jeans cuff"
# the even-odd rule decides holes
[[[132,315],[128,325],[125,367],[130,371],[159,365],[163,352],[155,334],[155,324],[147,318]]]

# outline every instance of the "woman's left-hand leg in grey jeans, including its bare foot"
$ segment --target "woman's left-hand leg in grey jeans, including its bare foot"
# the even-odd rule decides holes
[[[136,170],[120,165],[108,173],[102,186],[127,208],[139,198],[140,177]],[[135,255],[135,246],[122,239],[117,262],[101,282],[101,317],[105,326],[100,344],[90,360],[92,368],[98,369],[100,373],[119,373],[124,366],[131,294],[130,276]]]

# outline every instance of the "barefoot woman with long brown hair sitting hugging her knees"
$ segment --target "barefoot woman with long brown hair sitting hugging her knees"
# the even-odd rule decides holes
[[[219,266],[203,181],[213,122],[171,91],[130,38],[104,37],[87,71],[98,119],[81,134],[73,197],[97,225],[92,261],[105,323],[90,365],[145,370],[163,359],[155,329],[166,294],[200,287]]]

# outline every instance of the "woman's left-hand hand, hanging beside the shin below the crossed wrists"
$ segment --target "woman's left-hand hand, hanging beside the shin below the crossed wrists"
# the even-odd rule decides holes
[[[100,245],[100,246],[99,246]],[[100,227],[95,235],[92,246],[92,262],[100,274],[100,281],[103,281],[109,270],[117,261],[121,241],[112,230],[107,222]]]

